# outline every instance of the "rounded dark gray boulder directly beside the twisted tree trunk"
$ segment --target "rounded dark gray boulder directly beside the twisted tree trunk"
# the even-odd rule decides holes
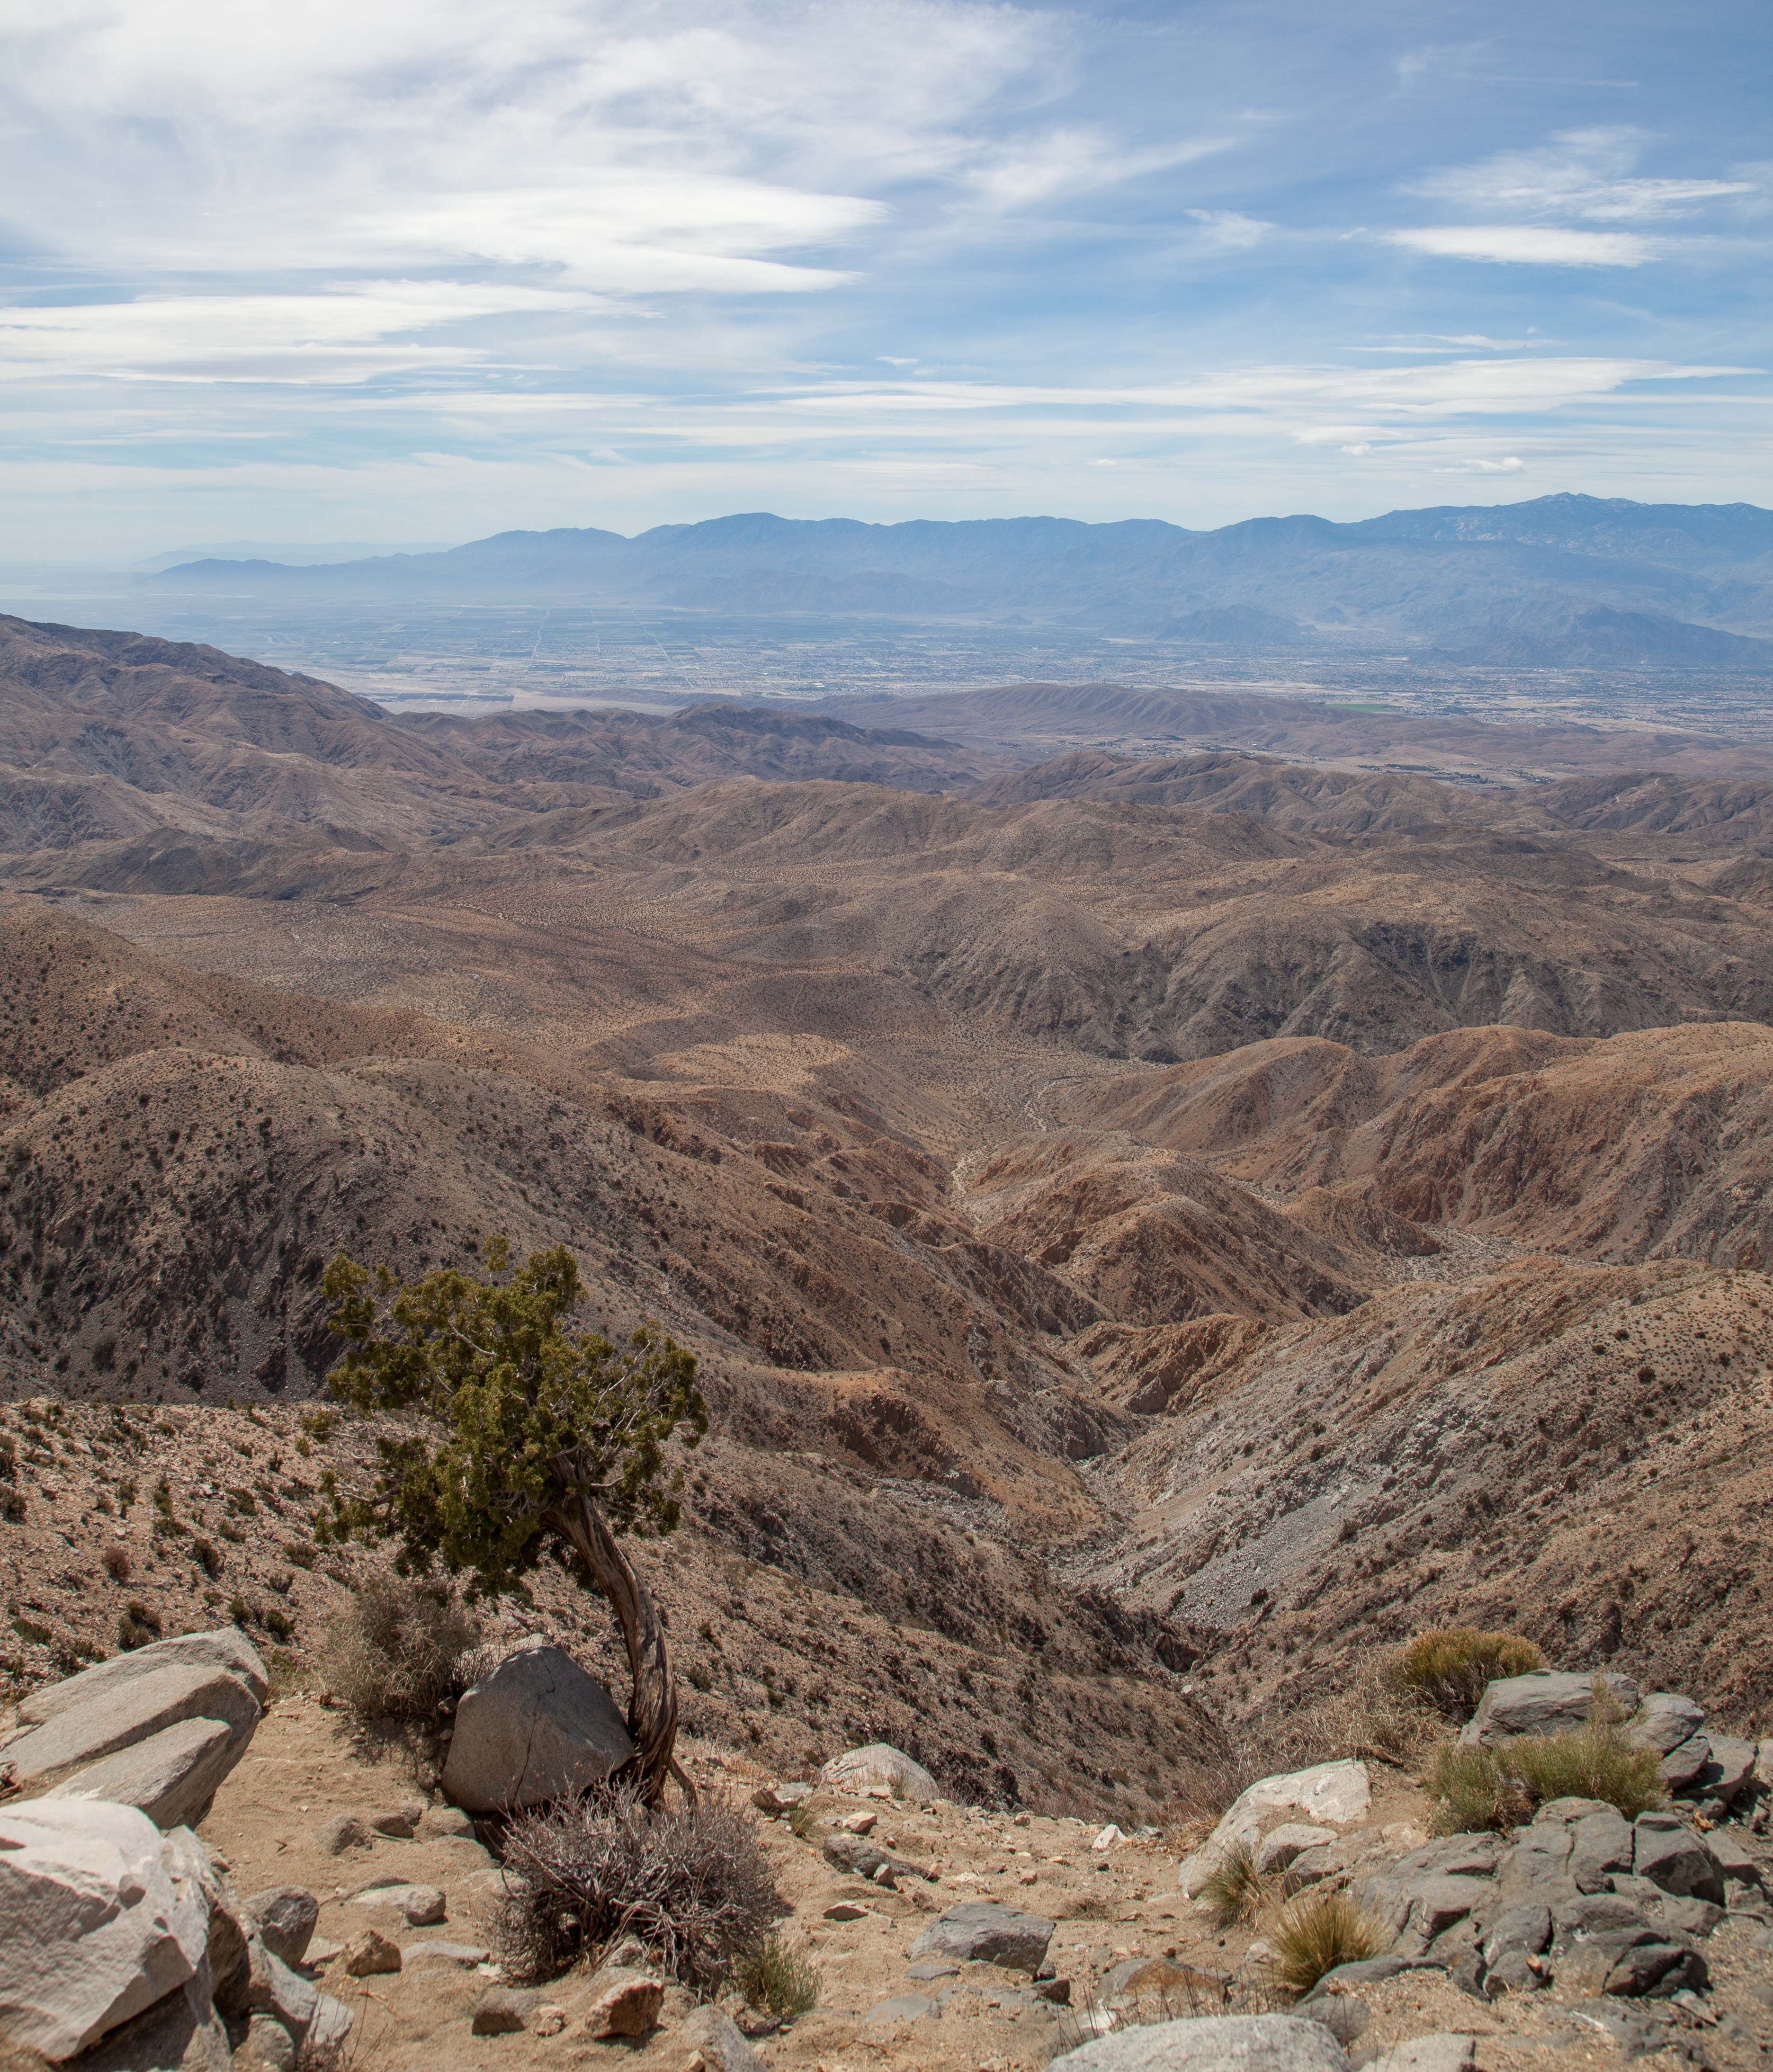
[[[634,1740],[601,1682],[563,1647],[520,1647],[456,1707],[443,1792],[470,1813],[514,1813],[601,1784]]]

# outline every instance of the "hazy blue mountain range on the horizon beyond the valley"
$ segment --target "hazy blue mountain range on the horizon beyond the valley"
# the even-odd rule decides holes
[[[756,512],[495,533],[445,553],[292,566],[184,562],[170,591],[891,617],[1019,615],[1230,646],[1386,640],[1502,667],[1773,667],[1773,512],[1752,503],[1531,503],[1359,524],[1154,518],[862,524]]]

